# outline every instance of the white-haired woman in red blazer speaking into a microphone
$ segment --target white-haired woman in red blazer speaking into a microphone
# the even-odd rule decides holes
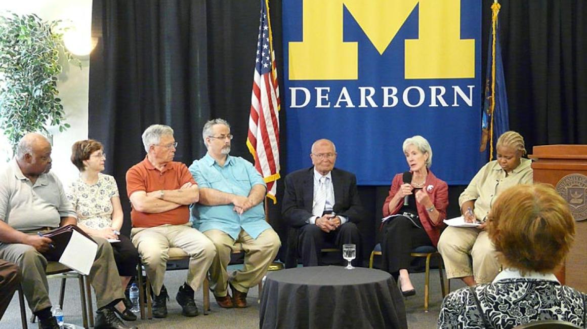
[[[404,155],[409,172],[393,177],[389,196],[383,204],[384,220],[380,229],[382,270],[399,279],[403,296],[416,294],[407,268],[410,251],[438,243],[446,219],[448,185],[429,170],[432,149],[422,136],[404,140]]]

